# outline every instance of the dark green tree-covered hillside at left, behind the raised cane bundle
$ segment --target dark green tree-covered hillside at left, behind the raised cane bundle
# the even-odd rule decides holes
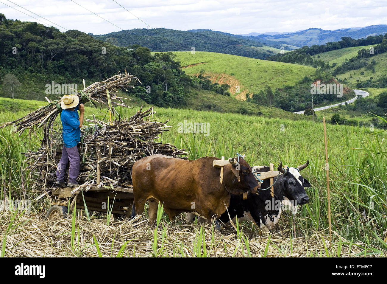
[[[186,105],[189,90],[208,86],[220,96],[229,96],[228,85],[213,85],[209,79],[190,77],[180,70],[175,55],[151,55],[148,48],[132,50],[110,45],[77,30],[62,33],[36,22],[6,19],[0,14],[0,96],[21,99],[56,98],[45,93],[46,84],[87,83],[127,71],[142,85],[129,89],[152,105]],[[50,88],[51,90],[51,88]]]

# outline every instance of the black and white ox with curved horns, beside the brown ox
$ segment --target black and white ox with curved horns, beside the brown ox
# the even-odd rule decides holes
[[[309,160],[298,168],[282,168],[282,162],[278,170],[282,175],[273,178],[274,197],[271,196],[271,190],[260,190],[258,194],[248,194],[247,199],[243,200],[242,195],[231,195],[228,212],[224,212],[219,220],[223,223],[229,223],[229,216],[233,222],[238,217],[239,221],[253,221],[264,231],[271,230],[277,224],[281,217],[281,203],[285,206],[294,207],[298,204],[306,204],[309,197],[305,193],[306,187],[310,187],[307,179],[301,176],[300,171],[305,169]],[[269,167],[252,167],[255,172],[268,172]],[[268,188],[270,179],[265,179],[261,188]]]

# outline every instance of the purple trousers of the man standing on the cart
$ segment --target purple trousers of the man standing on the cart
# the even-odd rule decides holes
[[[57,168],[57,181],[65,182],[65,173],[69,160],[70,166],[68,167],[68,182],[72,184],[77,184],[80,163],[78,146],[70,148],[63,146],[62,157],[60,158]]]

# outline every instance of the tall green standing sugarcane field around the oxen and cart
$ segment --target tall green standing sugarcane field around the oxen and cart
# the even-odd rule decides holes
[[[133,114],[138,108],[128,110],[125,117]],[[309,166],[302,174],[312,184],[306,188],[310,203],[302,206],[296,214],[296,236],[310,238],[319,234],[327,235],[327,194],[325,182],[324,135],[322,124],[316,122],[265,117],[244,116],[238,114],[221,114],[217,112],[199,112],[195,110],[157,108],[155,119],[171,119],[171,131],[163,134],[164,142],[187,148],[191,159],[210,155],[230,157],[236,152],[246,154],[246,160],[252,165],[264,165],[282,160],[284,164],[297,166],[309,159]],[[86,117],[92,112],[86,108]],[[0,122],[13,120],[27,114],[23,112],[2,112]],[[104,115],[97,113],[98,117]],[[178,133],[178,122],[208,122],[209,135],[203,133]],[[331,178],[331,208],[333,242],[343,245],[356,244],[364,254],[384,255],[387,248],[385,222],[386,200],[385,184],[387,179],[387,159],[382,157],[386,151],[385,133],[374,134],[368,128],[327,125],[329,138],[329,169]],[[23,137],[28,137],[24,136]],[[22,137],[22,138],[23,138]],[[20,154],[27,148],[38,144],[39,134],[24,140],[12,134],[9,128],[0,130],[0,169],[3,180],[1,196],[12,193],[19,197],[23,188],[30,193],[33,181],[24,172],[25,164]],[[370,150],[364,150],[370,149]],[[370,166],[372,165],[372,166]],[[24,179],[21,178],[21,172]],[[22,185],[23,184],[23,185]],[[33,196],[33,194],[32,194]],[[31,197],[32,197],[31,196]],[[372,201],[372,207],[370,202]],[[41,202],[34,203],[35,210],[41,210]],[[293,215],[284,212],[274,236],[293,236]],[[249,223],[243,225],[244,232],[252,231]],[[168,233],[169,234],[169,233]],[[274,237],[273,236],[273,237]],[[340,237],[340,238],[339,238]],[[344,239],[341,239],[344,238]],[[348,242],[346,241],[348,240]],[[148,240],[146,240],[148,241]],[[341,250],[329,253],[341,253]],[[348,250],[346,250],[348,252]],[[317,254],[308,251],[308,256]],[[325,255],[325,251],[322,253]]]

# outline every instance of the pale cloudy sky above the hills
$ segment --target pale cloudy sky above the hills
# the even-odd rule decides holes
[[[65,29],[77,29],[93,34],[105,34],[121,29],[146,28],[144,22],[148,22],[149,28],[212,29],[233,34],[287,32],[308,28],[339,29],[387,24],[385,0],[326,0],[315,3],[303,0],[115,1],[128,11],[113,0],[74,0],[74,2],[71,0],[12,0],[13,3],[8,0],[0,0],[0,12],[9,19],[41,22],[46,26],[53,25],[47,21],[49,20]],[[16,4],[47,20],[39,18]],[[39,21],[22,12],[32,15]],[[98,15],[111,23],[101,19]],[[64,31],[62,28],[59,29]]]

